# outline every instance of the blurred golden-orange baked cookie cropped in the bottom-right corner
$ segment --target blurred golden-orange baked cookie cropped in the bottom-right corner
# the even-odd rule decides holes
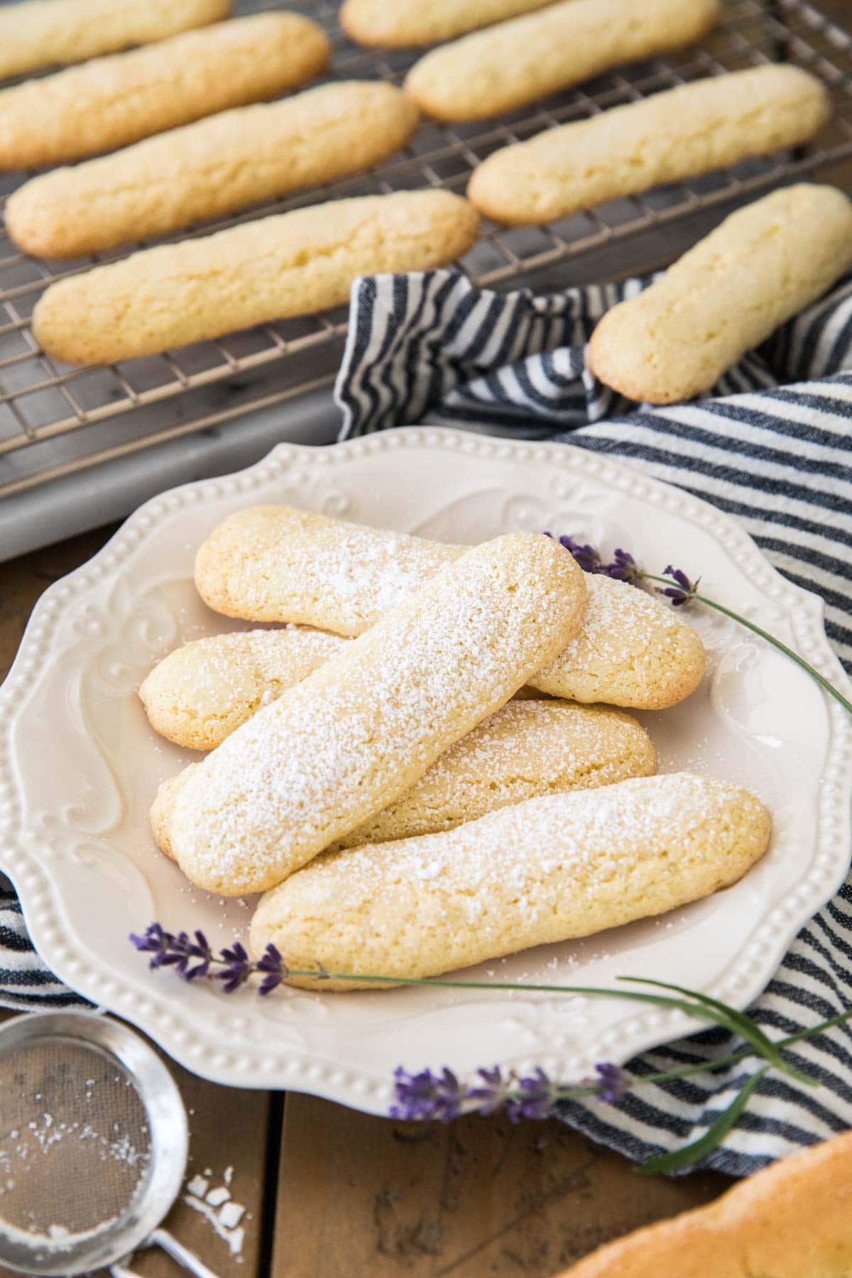
[[[635,1229],[561,1278],[843,1278],[852,1266],[852,1132]]]

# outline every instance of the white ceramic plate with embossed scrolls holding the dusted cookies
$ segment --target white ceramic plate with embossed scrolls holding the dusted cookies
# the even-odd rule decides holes
[[[189,886],[156,852],[147,812],[192,757],[149,728],[135,690],[186,639],[232,629],[192,583],[202,538],[230,511],[289,502],[445,541],[517,529],[672,558],[843,681],[820,601],[780,578],[727,516],[695,497],[563,445],[411,428],[331,449],[282,445],[249,470],[142,506],[95,558],[40,599],[0,689],[0,864],[33,941],[74,989],[220,1082],[290,1088],[382,1112],[396,1065],[542,1065],[572,1081],[595,1061],[695,1026],[588,997],[401,989],[351,994],[185,985],[128,943],[153,919],[244,937],[252,902]],[[770,806],[769,854],[736,887],[666,918],[483,965],[470,976],[609,985],[677,980],[743,1007],[848,868],[852,723],[809,677],[719,615],[695,611],[709,670],[685,704],[641,716],[664,771],[692,768]],[[5,800],[5,803],[4,803]],[[321,956],[318,956],[321,957]]]

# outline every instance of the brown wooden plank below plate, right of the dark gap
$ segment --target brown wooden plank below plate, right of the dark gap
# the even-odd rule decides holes
[[[556,1120],[419,1126],[290,1094],[272,1274],[544,1278],[728,1183],[646,1181]]]

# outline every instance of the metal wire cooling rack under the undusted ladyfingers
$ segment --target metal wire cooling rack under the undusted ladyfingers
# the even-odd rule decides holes
[[[238,0],[235,5],[238,13],[272,8],[272,0]],[[337,23],[339,5],[330,0],[287,0],[287,8],[319,20],[330,32],[335,45],[331,78],[401,83],[414,60],[411,54],[367,51],[346,41]],[[768,61],[796,63],[830,89],[834,116],[818,146],[657,188],[548,226],[506,230],[485,222],[480,240],[461,262],[479,285],[515,286],[544,268],[553,282],[567,282],[577,254],[852,156],[852,36],[806,0],[728,0],[722,26],[700,47],[600,77],[496,121],[456,127],[424,121],[405,151],[369,174],[189,234],[339,196],[423,187],[464,192],[476,164],[506,143],[692,79]],[[24,176],[0,176],[0,216],[3,201]],[[103,368],[72,368],[45,355],[32,336],[29,317],[47,284],[141,247],[49,263],[18,253],[0,230],[0,500],[183,435],[225,426],[232,431],[249,409],[293,399],[333,377],[345,308]],[[235,394],[208,395],[199,410],[199,396],[193,392],[216,387]]]

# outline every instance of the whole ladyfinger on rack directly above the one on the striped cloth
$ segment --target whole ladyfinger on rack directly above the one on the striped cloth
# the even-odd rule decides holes
[[[468,196],[496,221],[554,221],[798,146],[829,115],[825,86],[798,66],[711,75],[494,151],[474,170]]]

